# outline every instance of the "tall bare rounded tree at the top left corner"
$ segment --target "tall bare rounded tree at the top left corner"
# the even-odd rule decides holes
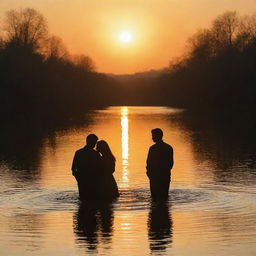
[[[38,50],[47,36],[44,17],[34,9],[10,10],[6,14],[4,30],[7,42]]]

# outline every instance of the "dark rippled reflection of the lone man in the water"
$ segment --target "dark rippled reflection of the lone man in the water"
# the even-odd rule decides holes
[[[172,243],[172,219],[167,203],[151,203],[148,215],[148,239],[151,252],[165,251]]]

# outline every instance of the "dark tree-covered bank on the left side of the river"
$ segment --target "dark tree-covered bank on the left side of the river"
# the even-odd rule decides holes
[[[0,31],[0,115],[58,120],[114,100],[113,78],[90,57],[71,55],[31,8],[10,10]]]

